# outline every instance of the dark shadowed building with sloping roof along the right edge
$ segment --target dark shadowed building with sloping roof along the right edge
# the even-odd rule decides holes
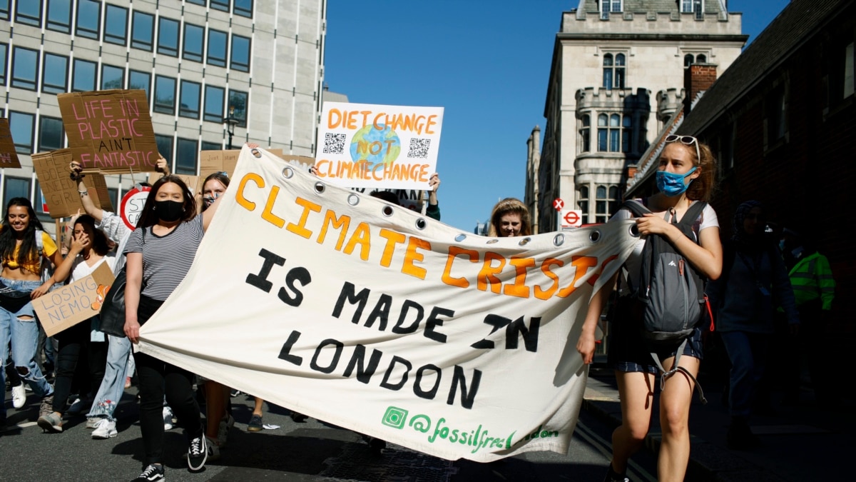
[[[846,301],[856,291],[853,231],[840,210],[847,211],[856,179],[853,45],[852,0],[792,0],[674,126],[716,156],[719,182],[710,203],[723,239],[733,234],[737,206],[756,200],[771,228],[802,233],[829,258],[834,323],[828,346],[817,351],[835,358],[852,346],[856,316]],[[627,196],[657,189],[655,147],[627,180]]]

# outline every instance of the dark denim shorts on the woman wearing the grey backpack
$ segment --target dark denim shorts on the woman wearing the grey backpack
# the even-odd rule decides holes
[[[697,326],[693,334],[687,338],[687,345],[681,356],[690,356],[702,359],[701,327]],[[607,365],[617,371],[646,371],[657,373],[657,364],[651,358],[651,346],[642,339],[641,323],[628,323],[626,321],[609,322],[609,339],[607,340]],[[675,346],[657,348],[657,357],[662,362],[666,358],[672,358],[678,352],[678,343]]]

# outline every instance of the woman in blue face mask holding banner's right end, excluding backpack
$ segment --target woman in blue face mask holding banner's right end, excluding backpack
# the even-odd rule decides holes
[[[722,271],[722,243],[719,239],[719,222],[713,208],[705,206],[698,219],[693,220],[695,239],[688,238],[677,225],[665,219],[681,220],[693,202],[706,202],[714,185],[715,172],[716,160],[710,148],[698,142],[698,139],[693,136],[666,137],[657,170],[657,188],[660,192],[639,200],[651,210],[651,214],[635,218],[640,239],[625,264],[631,284],[633,280],[639,279],[645,238],[651,236],[668,240],[704,278],[716,280],[719,277]],[[630,217],[627,209],[621,209],[613,216],[613,220]],[[628,286],[626,281],[622,280],[621,286]],[[586,322],[577,342],[577,351],[586,364],[590,364],[593,358],[597,320],[614,285],[615,280],[607,283],[591,299]],[[619,292],[620,296],[625,294],[627,292]],[[604,480],[625,481],[627,461],[643,447],[650,428],[654,391],[659,384],[658,370],[644,339],[640,321],[621,316],[609,322],[608,363],[615,370],[618,382],[621,425],[612,434],[612,460]],[[662,378],[659,396],[663,443],[657,460],[657,480],[661,482],[681,481],[687,472],[690,454],[689,408],[695,389],[694,377],[698,375],[702,356],[701,327],[693,329],[687,336],[687,343],[681,346],[678,362],[681,371],[674,371]],[[665,371],[676,368],[673,365],[677,350],[678,347],[675,347],[657,352]]]

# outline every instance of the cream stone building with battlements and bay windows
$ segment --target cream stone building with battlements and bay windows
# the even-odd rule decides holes
[[[740,55],[740,18],[725,0],[580,0],[562,14],[543,147],[526,168],[538,232],[559,229],[557,198],[584,224],[609,219],[627,166],[681,109],[684,70],[710,63],[721,75]]]

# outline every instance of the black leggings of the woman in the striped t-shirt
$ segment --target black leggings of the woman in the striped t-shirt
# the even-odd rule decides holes
[[[145,323],[163,301],[140,296],[137,318]],[[193,396],[193,374],[142,352],[134,353],[137,377],[140,379],[140,431],[146,449],[144,465],[163,460],[163,396],[188,439],[202,437],[205,427],[199,414],[199,404]]]

